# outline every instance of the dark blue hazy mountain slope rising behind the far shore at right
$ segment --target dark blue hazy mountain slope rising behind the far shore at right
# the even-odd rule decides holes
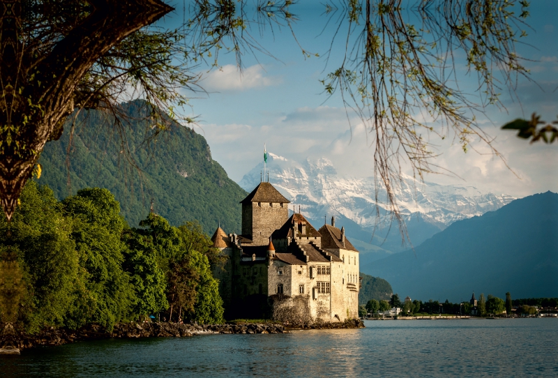
[[[504,298],[558,295],[558,194],[531,195],[460,220],[415,250],[361,271],[388,280],[400,296],[463,301],[483,292]]]

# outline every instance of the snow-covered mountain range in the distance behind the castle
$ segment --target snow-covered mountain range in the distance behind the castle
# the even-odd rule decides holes
[[[260,162],[239,185],[250,192],[260,182],[263,169],[264,163]],[[273,153],[269,153],[266,169],[269,182],[291,200],[296,211],[301,206],[302,213],[311,220],[319,222],[324,216],[328,220],[331,216],[341,217],[370,233],[375,226],[381,229],[390,225],[385,190],[379,188],[379,201],[376,201],[373,177],[342,176],[326,158],[296,162]],[[266,180],[267,176],[263,176]],[[484,193],[472,186],[421,183],[410,176],[403,177],[396,197],[407,223],[419,219],[429,226],[428,235],[418,238],[421,241],[456,220],[481,216],[515,199],[509,195]],[[380,219],[377,219],[375,206],[379,207]],[[412,242],[416,245],[418,240]]]

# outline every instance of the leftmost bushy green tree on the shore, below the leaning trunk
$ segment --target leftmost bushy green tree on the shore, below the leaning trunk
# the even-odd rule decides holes
[[[17,262],[10,264],[12,282],[23,285],[12,288],[20,292],[17,320],[29,332],[45,326],[75,326],[67,320],[84,294],[84,276],[71,239],[72,222],[63,216],[52,190],[29,181],[12,221],[3,218],[0,229],[5,264]]]

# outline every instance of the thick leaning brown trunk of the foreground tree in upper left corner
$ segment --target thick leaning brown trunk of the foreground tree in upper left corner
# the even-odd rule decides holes
[[[135,32],[170,10],[159,0],[3,3],[0,194],[8,220],[45,143],[59,138],[74,107],[116,99],[118,68],[126,63],[135,69],[128,70],[125,81],[135,75],[135,82],[142,82],[142,69],[132,62],[141,50],[131,49],[149,48],[153,36]],[[157,59],[151,51],[148,55],[137,63]],[[149,66],[160,68],[153,62]]]

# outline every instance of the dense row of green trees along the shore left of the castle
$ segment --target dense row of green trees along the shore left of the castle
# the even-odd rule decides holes
[[[210,260],[223,257],[201,227],[172,227],[149,213],[130,229],[119,212],[106,189],[85,188],[59,202],[47,186],[27,183],[11,224],[0,223],[2,276],[22,276],[17,322],[31,332],[91,323],[110,329],[147,315],[172,319],[173,307],[174,320],[222,322]],[[10,315],[3,303],[0,320]]]

